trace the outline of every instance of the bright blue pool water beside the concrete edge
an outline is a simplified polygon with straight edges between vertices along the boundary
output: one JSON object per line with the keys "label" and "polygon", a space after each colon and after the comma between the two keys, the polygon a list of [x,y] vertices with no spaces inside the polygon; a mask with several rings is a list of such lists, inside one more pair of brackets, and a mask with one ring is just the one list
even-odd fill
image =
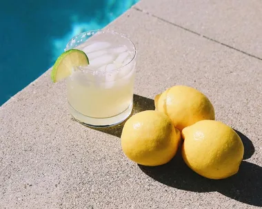
{"label": "bright blue pool water beside the concrete edge", "polygon": [[138,1],[1,2],[0,105],[46,72],[72,36],[103,28]]}

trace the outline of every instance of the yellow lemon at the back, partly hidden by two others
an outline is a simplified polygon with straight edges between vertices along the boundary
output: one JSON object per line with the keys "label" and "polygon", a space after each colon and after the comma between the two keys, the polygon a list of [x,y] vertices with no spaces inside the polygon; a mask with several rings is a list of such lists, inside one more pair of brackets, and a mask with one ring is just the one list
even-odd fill
{"label": "yellow lemon at the back, partly hidden by two others", "polygon": [[180,131],[199,120],[214,120],[214,107],[200,91],[174,86],[155,97],[155,107],[168,115]]}

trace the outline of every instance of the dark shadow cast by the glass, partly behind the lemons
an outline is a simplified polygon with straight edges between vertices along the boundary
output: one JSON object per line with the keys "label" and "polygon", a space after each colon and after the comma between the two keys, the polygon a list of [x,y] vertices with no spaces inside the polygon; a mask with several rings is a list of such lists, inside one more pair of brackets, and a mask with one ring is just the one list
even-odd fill
{"label": "dark shadow cast by the glass, partly behind the lemons", "polygon": [[[145,98],[143,96],[139,96],[137,94],[134,94],[134,99],[133,99],[133,109],[132,113],[128,118],[130,118],[132,115],[139,113],[141,111],[145,110],[154,110],[154,100]],[[114,135],[116,137],[121,137],[121,133],[123,130],[123,125],[125,124],[126,120],[125,119],[123,122],[120,124],[117,124],[115,126],[110,126],[110,127],[99,127],[99,128],[94,128],[91,127],[91,129],[95,129],[97,131],[101,131],[103,133],[108,133],[110,135]]]}

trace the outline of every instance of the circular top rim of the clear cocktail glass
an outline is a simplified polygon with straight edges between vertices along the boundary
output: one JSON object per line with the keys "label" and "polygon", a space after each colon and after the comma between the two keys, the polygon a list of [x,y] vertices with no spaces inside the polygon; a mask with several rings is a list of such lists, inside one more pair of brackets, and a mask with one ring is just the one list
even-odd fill
{"label": "circular top rim of the clear cocktail glass", "polygon": [[[103,33],[103,34],[105,34],[105,33],[110,33],[110,34],[115,34],[115,35],[117,35],[117,36],[121,36],[122,38],[126,39],[127,41],[129,41],[129,42],[131,43],[131,45],[132,45],[132,47],[133,47],[133,50],[134,50],[134,55],[132,56],[131,61],[129,61],[128,63],[126,63],[125,65],[123,65],[123,66],[121,66],[121,67],[108,70],[108,71],[105,72],[105,73],[110,73],[110,72],[118,71],[118,70],[120,70],[121,68],[123,68],[123,67],[125,67],[125,66],[128,66],[130,63],[132,63],[132,61],[134,61],[134,58],[136,58],[136,56],[137,56],[136,46],[135,46],[134,43],[131,41],[131,39],[129,39],[125,34],[119,33],[119,32],[115,32],[114,30],[103,30],[103,29],[100,29],[100,30],[88,30],[88,31],[85,31],[85,32],[81,32],[80,34],[77,34],[77,35],[73,36],[72,39],[70,39],[70,41],[68,41],[68,43],[67,43],[67,45],[66,45],[66,49],[69,47],[69,43],[72,43],[72,42],[74,41],[74,39],[76,39],[76,37],[81,36],[81,35],[82,35],[82,37],[84,37],[84,36],[86,36],[86,34],[88,34],[88,33],[92,34],[92,33],[94,33],[94,32],[101,32],[101,33]],[[94,35],[94,34],[92,34],[92,35]],[[92,37],[92,36],[91,36],[91,37]],[[73,48],[74,48],[74,47],[73,47]],[[67,51],[66,49],[64,50],[65,52]],[[69,49],[68,49],[68,50],[69,50]],[[83,70],[81,70],[81,72],[101,72],[101,70],[88,69],[88,66],[89,66],[89,65],[87,65],[87,66],[76,66],[76,67],[79,68],[80,70],[83,69]]]}

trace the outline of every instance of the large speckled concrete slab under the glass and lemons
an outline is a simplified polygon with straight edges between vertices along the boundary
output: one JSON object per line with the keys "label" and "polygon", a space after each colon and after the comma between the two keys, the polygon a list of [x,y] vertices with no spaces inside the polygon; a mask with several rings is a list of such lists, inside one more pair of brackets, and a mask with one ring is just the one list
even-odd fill
{"label": "large speckled concrete slab under the glass and lemons", "polygon": [[165,166],[130,162],[123,124],[74,122],[65,83],[51,83],[48,70],[0,107],[0,208],[261,208],[262,61],[135,8],[108,28],[137,46],[134,112],[172,85],[201,90],[245,144],[238,175],[205,179],[179,153]]}

